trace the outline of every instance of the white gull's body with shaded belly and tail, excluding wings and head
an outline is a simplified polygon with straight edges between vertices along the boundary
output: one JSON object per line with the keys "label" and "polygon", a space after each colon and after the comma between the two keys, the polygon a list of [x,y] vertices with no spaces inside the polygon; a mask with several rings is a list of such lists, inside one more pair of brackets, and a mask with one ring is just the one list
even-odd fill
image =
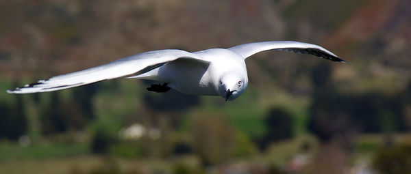
{"label": "white gull's body with shaded belly and tail, excluding wings and head", "polygon": [[192,54],[204,61],[177,59],[150,72],[130,78],[167,83],[169,87],[181,93],[201,96],[219,96],[219,79],[223,74],[242,72],[247,79],[244,59],[232,51],[214,48]]}

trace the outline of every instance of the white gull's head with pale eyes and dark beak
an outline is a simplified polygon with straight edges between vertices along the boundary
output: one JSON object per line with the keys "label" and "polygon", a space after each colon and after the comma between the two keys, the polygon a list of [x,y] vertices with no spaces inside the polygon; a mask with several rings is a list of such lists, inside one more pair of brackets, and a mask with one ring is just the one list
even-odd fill
{"label": "white gull's head with pale eyes and dark beak", "polygon": [[225,101],[231,101],[238,98],[245,91],[247,85],[247,76],[234,73],[226,74],[220,80],[219,94],[225,98]]}

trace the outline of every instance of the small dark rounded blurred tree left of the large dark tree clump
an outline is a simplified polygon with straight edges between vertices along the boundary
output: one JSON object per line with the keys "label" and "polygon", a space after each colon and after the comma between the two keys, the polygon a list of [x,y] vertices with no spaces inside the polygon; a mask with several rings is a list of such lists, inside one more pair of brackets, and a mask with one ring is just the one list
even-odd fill
{"label": "small dark rounded blurred tree left of the large dark tree clump", "polygon": [[258,146],[264,150],[271,143],[292,137],[292,115],[284,108],[271,108],[264,118],[266,132],[258,139]]}

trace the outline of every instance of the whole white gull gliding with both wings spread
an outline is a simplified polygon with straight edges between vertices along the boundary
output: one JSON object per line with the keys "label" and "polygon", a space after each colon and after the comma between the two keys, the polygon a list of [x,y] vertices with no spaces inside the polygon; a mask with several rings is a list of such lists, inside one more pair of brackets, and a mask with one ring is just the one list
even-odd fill
{"label": "whole white gull gliding with both wings spread", "polygon": [[[53,76],[47,80],[7,90],[8,93],[38,93],[58,91],[129,76],[158,81],[147,90],[166,92],[175,89],[181,93],[201,96],[221,96],[225,101],[238,98],[248,85],[245,59],[264,50],[286,50],[310,54],[330,61],[349,63],[329,50],[295,41],[268,41],[241,44],[231,48],[212,48],[189,53],[185,50],[152,50],[124,57],[102,66]],[[157,66],[148,72],[131,76]],[[162,83],[162,84],[160,84]]]}

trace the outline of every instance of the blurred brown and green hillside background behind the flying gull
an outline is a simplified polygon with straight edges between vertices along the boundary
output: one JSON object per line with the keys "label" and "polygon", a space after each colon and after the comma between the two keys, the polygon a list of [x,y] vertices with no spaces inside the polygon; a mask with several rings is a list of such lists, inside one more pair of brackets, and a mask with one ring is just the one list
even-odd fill
{"label": "blurred brown and green hillside background behind the flying gull", "polygon": [[[411,173],[411,1],[0,1],[0,173]],[[148,50],[266,51],[233,102],[118,79],[26,83]]]}

